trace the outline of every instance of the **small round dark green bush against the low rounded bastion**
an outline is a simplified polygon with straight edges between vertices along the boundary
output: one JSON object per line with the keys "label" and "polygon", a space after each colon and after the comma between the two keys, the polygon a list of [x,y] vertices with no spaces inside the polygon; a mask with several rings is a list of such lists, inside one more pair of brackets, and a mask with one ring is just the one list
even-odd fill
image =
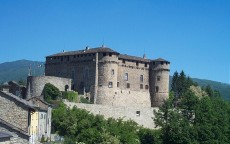
{"label": "small round dark green bush against the low rounded bastion", "polygon": [[47,83],[43,89],[44,100],[51,102],[51,100],[57,100],[61,96],[61,92],[54,85]]}

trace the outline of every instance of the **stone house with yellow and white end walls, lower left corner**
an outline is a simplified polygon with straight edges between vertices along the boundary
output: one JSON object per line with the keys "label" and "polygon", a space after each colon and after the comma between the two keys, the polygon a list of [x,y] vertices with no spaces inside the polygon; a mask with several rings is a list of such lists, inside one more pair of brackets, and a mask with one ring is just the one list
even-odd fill
{"label": "stone house with yellow and white end walls, lower left corner", "polygon": [[36,97],[24,100],[0,91],[0,132],[11,136],[9,143],[39,143],[42,135],[50,137],[51,107]]}

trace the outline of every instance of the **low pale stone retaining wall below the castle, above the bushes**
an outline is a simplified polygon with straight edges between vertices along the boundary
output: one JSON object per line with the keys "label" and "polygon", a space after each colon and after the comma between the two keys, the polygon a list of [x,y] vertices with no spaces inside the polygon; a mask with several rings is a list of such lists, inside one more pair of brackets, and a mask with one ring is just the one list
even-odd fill
{"label": "low pale stone retaining wall below the castle, above the bushes", "polygon": [[93,104],[81,104],[81,103],[72,103],[65,102],[65,104],[72,108],[76,106],[80,109],[85,109],[90,111],[93,114],[103,115],[105,118],[123,118],[124,120],[133,120],[139,125],[146,128],[155,128],[153,119],[155,116],[153,110],[158,110],[158,108],[144,108],[144,107],[121,107],[121,106],[108,106],[108,105],[93,105]]}

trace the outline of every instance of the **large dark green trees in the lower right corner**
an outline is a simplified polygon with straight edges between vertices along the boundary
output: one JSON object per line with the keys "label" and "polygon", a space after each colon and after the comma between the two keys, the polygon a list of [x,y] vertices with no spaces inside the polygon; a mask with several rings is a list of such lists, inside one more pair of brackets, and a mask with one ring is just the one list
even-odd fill
{"label": "large dark green trees in the lower right corner", "polygon": [[220,97],[198,98],[185,92],[177,107],[173,96],[156,112],[163,143],[230,143],[230,107]]}

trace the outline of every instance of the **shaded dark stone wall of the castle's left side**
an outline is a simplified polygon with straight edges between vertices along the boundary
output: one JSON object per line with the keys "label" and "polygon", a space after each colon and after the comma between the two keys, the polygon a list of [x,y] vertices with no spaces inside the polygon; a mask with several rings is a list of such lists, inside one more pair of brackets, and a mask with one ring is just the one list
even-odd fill
{"label": "shaded dark stone wall of the castle's left side", "polygon": [[46,76],[70,78],[73,80],[71,89],[79,94],[90,92],[95,85],[96,55],[84,54],[68,56],[46,61]]}

